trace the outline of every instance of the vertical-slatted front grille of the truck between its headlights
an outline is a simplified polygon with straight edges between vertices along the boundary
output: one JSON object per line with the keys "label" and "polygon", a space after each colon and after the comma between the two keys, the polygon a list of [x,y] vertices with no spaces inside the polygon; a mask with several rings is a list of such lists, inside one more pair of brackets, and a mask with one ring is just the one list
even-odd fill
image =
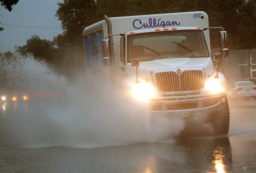
{"label": "vertical-slatted front grille of the truck between its headlights", "polygon": [[161,92],[199,90],[204,86],[202,70],[186,70],[180,75],[174,71],[158,72],[156,81]]}

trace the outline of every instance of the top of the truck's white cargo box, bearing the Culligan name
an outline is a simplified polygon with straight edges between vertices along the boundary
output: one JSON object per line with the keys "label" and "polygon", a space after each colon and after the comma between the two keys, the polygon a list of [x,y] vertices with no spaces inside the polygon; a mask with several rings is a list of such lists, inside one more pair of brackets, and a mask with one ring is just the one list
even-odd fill
{"label": "top of the truck's white cargo box, bearing the Culligan name", "polygon": [[[208,15],[203,11],[110,17],[113,33],[166,27],[208,27]],[[102,31],[106,21],[101,20],[84,28],[83,36]]]}

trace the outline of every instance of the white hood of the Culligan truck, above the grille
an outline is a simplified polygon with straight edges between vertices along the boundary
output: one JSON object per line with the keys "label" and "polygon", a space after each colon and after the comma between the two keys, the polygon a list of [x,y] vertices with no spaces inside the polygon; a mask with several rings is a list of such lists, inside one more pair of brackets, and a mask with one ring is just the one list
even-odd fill
{"label": "white hood of the Culligan truck, above the grille", "polygon": [[[208,58],[168,58],[153,61],[142,61],[139,71],[142,73],[176,71],[181,70],[204,70],[206,74],[212,69],[212,61]],[[146,74],[145,74],[146,75]]]}

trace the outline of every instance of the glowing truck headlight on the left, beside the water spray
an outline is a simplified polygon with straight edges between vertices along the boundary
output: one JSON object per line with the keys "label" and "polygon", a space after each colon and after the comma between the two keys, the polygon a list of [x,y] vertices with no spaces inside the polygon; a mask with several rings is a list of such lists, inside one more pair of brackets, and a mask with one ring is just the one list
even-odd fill
{"label": "glowing truck headlight on the left, beside the water spray", "polygon": [[156,95],[156,90],[150,83],[141,81],[141,83],[133,83],[131,95],[137,100],[145,102]]}

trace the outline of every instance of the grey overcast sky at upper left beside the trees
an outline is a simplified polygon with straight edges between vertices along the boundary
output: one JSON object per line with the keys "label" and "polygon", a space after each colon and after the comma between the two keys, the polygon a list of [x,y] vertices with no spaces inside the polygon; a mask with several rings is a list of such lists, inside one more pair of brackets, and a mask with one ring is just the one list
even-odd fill
{"label": "grey overcast sky at upper left beside the trees", "polygon": [[5,29],[0,31],[0,52],[13,52],[15,45],[25,45],[27,39],[32,35],[38,35],[41,39],[53,40],[54,36],[61,34],[63,32],[61,22],[55,17],[59,2],[63,2],[63,0],[19,0],[11,12],[0,7],[0,24],[60,28],[38,29],[0,25]]}

